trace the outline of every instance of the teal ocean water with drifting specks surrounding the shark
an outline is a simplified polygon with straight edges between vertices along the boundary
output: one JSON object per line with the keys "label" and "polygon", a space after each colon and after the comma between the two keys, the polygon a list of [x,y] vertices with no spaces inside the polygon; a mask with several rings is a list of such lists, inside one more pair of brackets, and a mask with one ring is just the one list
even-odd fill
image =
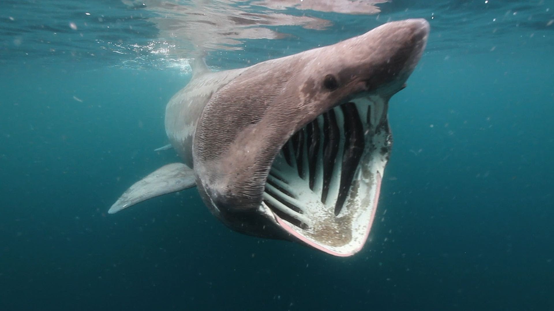
{"label": "teal ocean water with drifting specks surrounding the shark", "polygon": [[[0,310],[554,309],[554,1],[196,2],[0,2]],[[196,189],[107,214],[179,160],[153,149],[195,44],[224,70],[404,18],[431,34],[357,255],[240,235]]]}

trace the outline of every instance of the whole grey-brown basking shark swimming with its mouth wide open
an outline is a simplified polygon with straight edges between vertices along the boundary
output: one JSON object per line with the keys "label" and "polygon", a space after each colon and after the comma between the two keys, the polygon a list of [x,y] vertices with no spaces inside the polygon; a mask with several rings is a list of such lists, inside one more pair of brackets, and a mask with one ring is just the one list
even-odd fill
{"label": "whole grey-brown basking shark swimming with its mouth wide open", "polygon": [[391,153],[387,109],[416,67],[424,19],[242,69],[201,58],[166,107],[183,163],[131,186],[110,214],[192,186],[212,214],[243,234],[351,256],[367,240]]}

